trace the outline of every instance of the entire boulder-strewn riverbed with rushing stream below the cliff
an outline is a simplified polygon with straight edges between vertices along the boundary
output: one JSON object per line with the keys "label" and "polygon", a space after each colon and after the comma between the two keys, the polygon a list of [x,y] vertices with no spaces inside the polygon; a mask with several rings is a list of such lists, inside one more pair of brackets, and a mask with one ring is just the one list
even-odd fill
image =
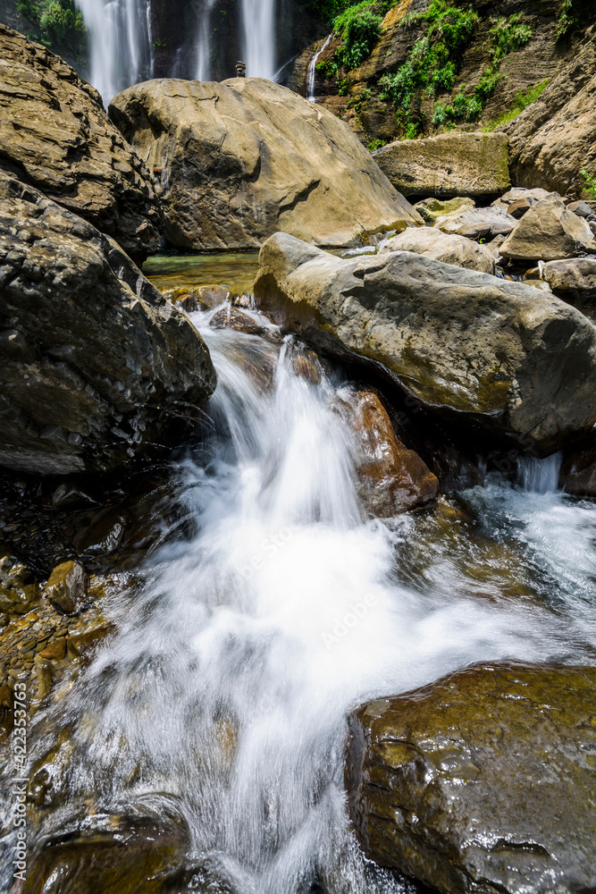
{"label": "entire boulder-strewn riverbed with rushing stream below the cliff", "polygon": [[594,203],[0,60],[3,890],[592,890]]}

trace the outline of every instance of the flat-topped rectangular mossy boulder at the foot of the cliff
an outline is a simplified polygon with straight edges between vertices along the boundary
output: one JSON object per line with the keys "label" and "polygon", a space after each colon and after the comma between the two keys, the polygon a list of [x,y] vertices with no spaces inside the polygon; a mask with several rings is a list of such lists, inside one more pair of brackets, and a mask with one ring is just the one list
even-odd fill
{"label": "flat-topped rectangular mossy boulder at the foot of the cliff", "polygon": [[405,196],[487,198],[508,190],[508,139],[503,133],[451,131],[399,139],[373,153]]}

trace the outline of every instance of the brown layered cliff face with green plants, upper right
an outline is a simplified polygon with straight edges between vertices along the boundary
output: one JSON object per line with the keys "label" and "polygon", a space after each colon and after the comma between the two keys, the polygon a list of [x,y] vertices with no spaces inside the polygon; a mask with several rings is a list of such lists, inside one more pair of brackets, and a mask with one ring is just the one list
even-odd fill
{"label": "brown layered cliff face with green plants, upper right", "polygon": [[[522,141],[529,139],[551,112],[565,119],[567,101],[578,90],[587,89],[594,74],[591,68],[594,38],[590,29],[596,22],[596,9],[592,4],[574,0],[575,23],[561,33],[567,10],[564,0],[500,0],[498,3],[475,0],[471,4],[457,4],[459,8],[469,8],[477,18],[463,52],[454,56],[457,76],[452,88],[436,92],[421,89],[405,110],[403,104],[387,96],[388,76],[390,79],[400,70],[403,72],[405,63],[413,58],[413,47],[431,33],[429,19],[417,18],[416,14],[428,16],[432,6],[439,4],[433,4],[432,0],[401,0],[391,8],[382,21],[381,38],[354,71],[347,72],[340,67],[335,72],[341,39],[333,38],[317,59],[315,95],[318,101],[348,122],[370,148],[404,136],[428,136],[452,128],[467,131],[503,128],[515,147],[516,159],[517,156],[525,159],[516,160],[514,170],[519,177],[527,179],[540,149],[534,147],[532,158],[526,158]],[[290,78],[293,89],[306,94],[307,69],[322,46],[323,40],[298,56]],[[495,75],[492,89],[487,89],[487,71]],[[576,103],[573,119],[567,126],[573,126],[579,115],[591,116],[591,95],[588,89],[583,102]],[[474,108],[469,112],[469,103],[474,97],[482,97],[482,109],[475,107],[475,113]],[[458,101],[462,109],[466,108],[466,101],[468,114],[455,114],[454,105],[457,108]],[[524,111],[526,105],[529,108]],[[524,126],[519,129],[521,120]],[[592,118],[588,125],[583,123],[580,139],[583,148],[575,151],[577,169],[591,161],[589,146],[596,137],[592,124]],[[545,162],[543,166],[546,170],[548,164]],[[541,181],[543,173],[537,175]],[[567,175],[554,177],[552,188],[560,190],[568,185],[567,181]],[[532,185],[536,184],[532,182]]]}

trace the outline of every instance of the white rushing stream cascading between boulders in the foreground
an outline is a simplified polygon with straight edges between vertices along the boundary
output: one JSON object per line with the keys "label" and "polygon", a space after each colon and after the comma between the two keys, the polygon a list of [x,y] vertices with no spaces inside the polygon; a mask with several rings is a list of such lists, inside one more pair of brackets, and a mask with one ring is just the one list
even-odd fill
{"label": "white rushing stream cascading between boulders in the foreground", "polygon": [[593,663],[596,514],[495,479],[365,520],[348,383],[252,315],[267,337],[192,315],[219,376],[180,460],[195,533],[108,600],[117,633],[36,721],[33,760],[71,730],[42,832],[175,811],[225,890],[403,891],[348,831],[346,714],[469,662]]}

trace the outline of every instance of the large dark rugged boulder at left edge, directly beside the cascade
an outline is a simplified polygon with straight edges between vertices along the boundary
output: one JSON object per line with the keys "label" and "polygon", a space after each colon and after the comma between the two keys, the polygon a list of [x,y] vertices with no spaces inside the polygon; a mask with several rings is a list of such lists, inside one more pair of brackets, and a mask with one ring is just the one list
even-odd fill
{"label": "large dark rugged boulder at left edge, directly beside the cascade", "polygon": [[215,386],[189,318],[113,240],[0,174],[0,465],[116,468]]}

